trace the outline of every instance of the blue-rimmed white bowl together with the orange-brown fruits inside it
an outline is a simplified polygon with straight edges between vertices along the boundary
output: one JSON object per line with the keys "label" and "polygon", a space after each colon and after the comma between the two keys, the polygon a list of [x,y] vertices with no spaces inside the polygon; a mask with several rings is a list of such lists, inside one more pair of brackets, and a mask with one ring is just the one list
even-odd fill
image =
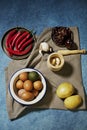
{"label": "blue-rimmed white bowl together with the orange-brown fruits inside it", "polygon": [[37,69],[22,68],[12,75],[9,91],[12,98],[18,103],[32,105],[44,97],[46,79]]}

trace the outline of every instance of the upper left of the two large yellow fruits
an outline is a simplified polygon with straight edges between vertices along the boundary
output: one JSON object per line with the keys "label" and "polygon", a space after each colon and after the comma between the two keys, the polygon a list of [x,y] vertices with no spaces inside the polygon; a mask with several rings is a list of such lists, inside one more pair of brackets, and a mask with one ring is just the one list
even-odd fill
{"label": "upper left of the two large yellow fruits", "polygon": [[61,83],[56,90],[56,94],[59,98],[67,98],[72,94],[74,94],[74,92],[75,92],[75,88],[69,82]]}

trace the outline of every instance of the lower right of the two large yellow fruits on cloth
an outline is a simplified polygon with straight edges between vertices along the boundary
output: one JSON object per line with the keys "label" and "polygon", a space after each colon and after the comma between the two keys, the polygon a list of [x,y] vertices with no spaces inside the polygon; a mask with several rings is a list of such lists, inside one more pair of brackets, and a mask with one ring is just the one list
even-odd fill
{"label": "lower right of the two large yellow fruits on cloth", "polygon": [[82,104],[80,95],[73,95],[64,100],[64,105],[67,109],[74,110]]}

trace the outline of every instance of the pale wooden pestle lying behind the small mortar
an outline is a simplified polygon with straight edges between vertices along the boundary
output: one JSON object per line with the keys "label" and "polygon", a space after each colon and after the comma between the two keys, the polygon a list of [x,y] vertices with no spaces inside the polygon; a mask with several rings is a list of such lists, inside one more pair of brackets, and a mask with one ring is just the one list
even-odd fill
{"label": "pale wooden pestle lying behind the small mortar", "polygon": [[82,50],[59,50],[57,53],[61,53],[62,55],[74,55],[74,54],[86,54],[87,51],[85,49]]}

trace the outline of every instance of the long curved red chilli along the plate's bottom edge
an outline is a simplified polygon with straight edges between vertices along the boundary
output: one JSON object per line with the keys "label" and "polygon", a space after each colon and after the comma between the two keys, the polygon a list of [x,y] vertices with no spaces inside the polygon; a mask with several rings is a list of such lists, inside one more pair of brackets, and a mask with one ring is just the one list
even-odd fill
{"label": "long curved red chilli along the plate's bottom edge", "polygon": [[12,50],[11,48],[6,48],[6,49],[7,49],[7,51],[8,51],[9,53],[11,53],[11,54],[13,54],[13,55],[19,55],[19,56],[21,56],[21,55],[25,55],[25,54],[27,54],[28,52],[30,52],[31,49],[32,49],[32,47],[33,47],[33,45],[30,44],[30,46],[29,46],[26,50],[21,51],[21,52],[18,51],[18,50]]}

